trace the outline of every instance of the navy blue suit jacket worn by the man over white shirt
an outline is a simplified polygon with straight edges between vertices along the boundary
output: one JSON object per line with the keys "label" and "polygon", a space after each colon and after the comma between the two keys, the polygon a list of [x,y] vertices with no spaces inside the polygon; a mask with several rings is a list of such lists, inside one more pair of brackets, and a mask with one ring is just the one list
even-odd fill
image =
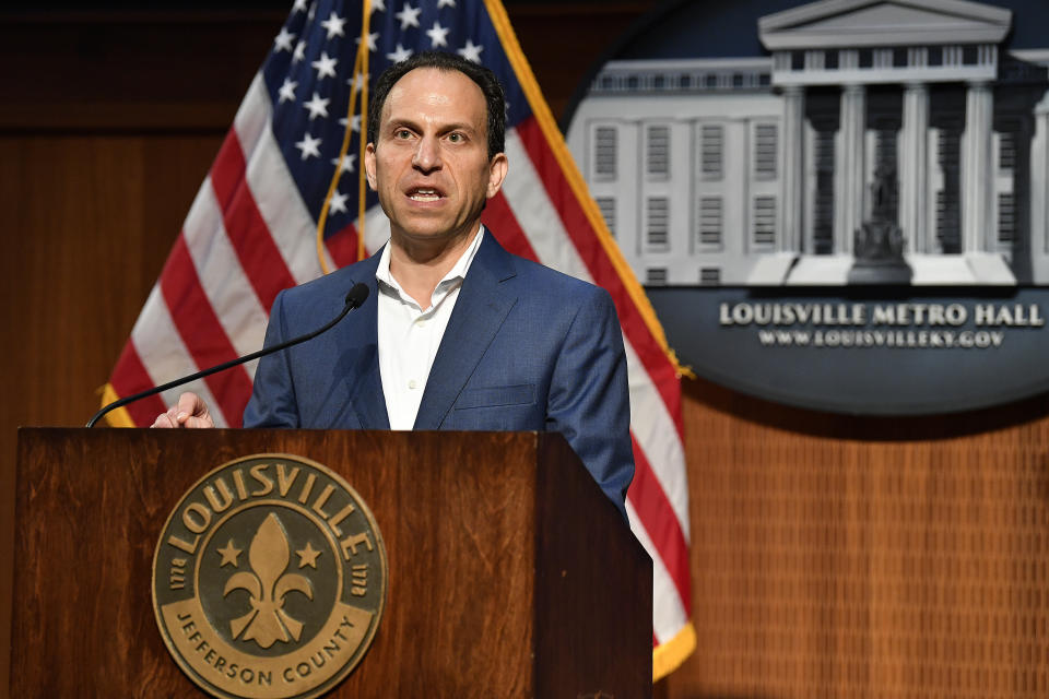
{"label": "navy blue suit jacket worn by the man over white shirt", "polygon": [[[326,334],[259,362],[245,427],[390,428],[377,346],[378,261],[377,253],[278,295],[267,346],[334,318],[355,283],[370,289]],[[486,232],[414,429],[559,431],[625,516],[634,476],[629,399],[608,293],[510,254]]]}

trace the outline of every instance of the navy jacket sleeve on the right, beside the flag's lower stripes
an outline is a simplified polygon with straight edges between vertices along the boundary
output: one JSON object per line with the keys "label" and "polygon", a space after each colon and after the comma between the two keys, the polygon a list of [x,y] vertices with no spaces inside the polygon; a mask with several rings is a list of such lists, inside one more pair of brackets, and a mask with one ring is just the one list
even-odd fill
{"label": "navy jacket sleeve on the right, beside the flag's lower stripes", "polygon": [[597,287],[588,292],[554,365],[546,429],[565,436],[626,519],[634,478],[626,353],[612,298]]}

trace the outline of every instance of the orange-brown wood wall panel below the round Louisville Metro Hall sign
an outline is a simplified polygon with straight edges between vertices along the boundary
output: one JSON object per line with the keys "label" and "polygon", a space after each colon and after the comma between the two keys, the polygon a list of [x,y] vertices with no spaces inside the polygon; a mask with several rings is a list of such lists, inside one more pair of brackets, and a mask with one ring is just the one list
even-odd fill
{"label": "orange-brown wood wall panel below the round Louisville Metro Hall sign", "polygon": [[1045,696],[1047,412],[872,420],[692,383],[699,647],[669,696]]}

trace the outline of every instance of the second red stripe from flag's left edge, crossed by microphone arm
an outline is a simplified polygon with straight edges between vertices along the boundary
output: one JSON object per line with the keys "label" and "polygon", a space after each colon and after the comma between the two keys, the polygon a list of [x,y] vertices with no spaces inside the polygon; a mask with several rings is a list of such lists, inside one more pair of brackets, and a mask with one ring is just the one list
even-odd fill
{"label": "second red stripe from flag's left edge, crossed by microphone arm", "polygon": [[[161,294],[175,329],[198,367],[203,369],[237,356],[200,285],[185,236],[178,236],[161,273]],[[226,424],[239,427],[244,407],[251,396],[247,370],[243,366],[234,367],[213,374],[204,381],[219,401]]]}

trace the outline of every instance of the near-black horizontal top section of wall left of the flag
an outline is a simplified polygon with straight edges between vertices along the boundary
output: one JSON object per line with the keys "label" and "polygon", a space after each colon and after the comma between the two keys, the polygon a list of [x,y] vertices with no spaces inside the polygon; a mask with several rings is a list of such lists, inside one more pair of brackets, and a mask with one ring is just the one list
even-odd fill
{"label": "near-black horizontal top section of wall left of the flag", "polygon": [[0,15],[0,128],[224,130],[285,16],[83,8]]}

